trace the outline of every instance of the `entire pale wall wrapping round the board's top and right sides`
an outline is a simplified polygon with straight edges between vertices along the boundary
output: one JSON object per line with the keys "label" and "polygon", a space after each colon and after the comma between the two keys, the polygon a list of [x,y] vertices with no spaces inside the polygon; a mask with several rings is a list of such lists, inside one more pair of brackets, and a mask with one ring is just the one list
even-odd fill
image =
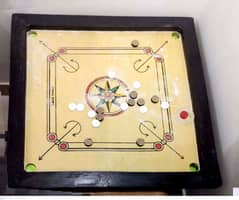
{"label": "entire pale wall wrapping round the board's top and right sides", "polygon": [[191,194],[231,194],[239,187],[239,21],[237,0],[2,0],[0,5],[0,81],[8,81],[11,14],[191,16],[195,18],[204,62],[218,157],[224,184]]}

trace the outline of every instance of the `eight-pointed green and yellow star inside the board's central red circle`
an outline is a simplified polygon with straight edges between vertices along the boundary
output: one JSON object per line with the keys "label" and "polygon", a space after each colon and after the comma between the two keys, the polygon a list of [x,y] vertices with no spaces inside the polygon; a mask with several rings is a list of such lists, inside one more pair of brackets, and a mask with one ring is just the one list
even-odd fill
{"label": "eight-pointed green and yellow star inside the board's central red circle", "polygon": [[105,104],[108,112],[111,111],[112,104],[120,106],[120,104],[117,102],[119,98],[126,97],[126,95],[124,94],[117,93],[120,85],[111,88],[111,85],[108,80],[105,82],[104,88],[98,85],[95,85],[95,87],[99,91],[96,96],[98,96],[100,99],[96,107],[100,107]]}

